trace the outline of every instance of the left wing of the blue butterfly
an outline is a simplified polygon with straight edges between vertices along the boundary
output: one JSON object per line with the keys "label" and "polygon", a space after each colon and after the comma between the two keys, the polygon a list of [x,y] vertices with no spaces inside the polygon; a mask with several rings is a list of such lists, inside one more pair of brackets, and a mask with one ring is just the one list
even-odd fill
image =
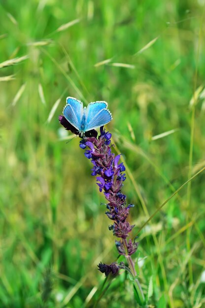
{"label": "left wing of the blue butterfly", "polygon": [[63,110],[64,117],[70,124],[80,131],[80,124],[83,115],[83,104],[80,100],[70,96],[67,97],[66,102],[67,104]]}

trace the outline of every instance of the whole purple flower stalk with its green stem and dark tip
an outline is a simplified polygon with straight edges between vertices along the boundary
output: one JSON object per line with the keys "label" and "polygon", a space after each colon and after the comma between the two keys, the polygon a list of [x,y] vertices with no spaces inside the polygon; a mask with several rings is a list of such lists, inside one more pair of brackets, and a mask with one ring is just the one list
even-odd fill
{"label": "whole purple flower stalk with its green stem and dark tip", "polygon": [[[76,135],[79,133],[68,123],[65,117],[59,116],[59,121],[66,129],[71,130]],[[119,163],[120,155],[115,155],[111,151],[113,146],[110,145],[111,133],[106,132],[102,126],[100,135],[98,137],[97,135],[96,130],[86,132],[86,135],[80,140],[80,148],[85,150],[85,156],[93,164],[91,175],[96,177],[99,190],[103,192],[107,200],[105,214],[112,221],[108,228],[117,237],[115,241],[116,248],[120,255],[125,256],[128,263],[128,267],[123,262],[113,262],[109,265],[100,263],[98,267],[105,276],[110,274],[115,276],[120,269],[125,269],[132,274],[134,291],[137,293],[137,302],[141,307],[146,307],[143,291],[137,279],[135,262],[132,259],[132,255],[136,252],[139,243],[135,241],[136,239],[133,241],[131,238],[127,240],[134,227],[127,220],[130,209],[134,205],[127,205],[126,195],[121,191],[126,180],[125,166],[123,162]]]}

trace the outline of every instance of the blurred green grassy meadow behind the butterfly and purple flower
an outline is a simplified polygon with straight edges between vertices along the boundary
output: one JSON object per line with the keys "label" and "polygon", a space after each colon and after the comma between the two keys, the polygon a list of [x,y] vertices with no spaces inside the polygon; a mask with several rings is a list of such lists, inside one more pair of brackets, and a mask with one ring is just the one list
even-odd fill
{"label": "blurred green grassy meadow behind the butterfly and purple flower", "polygon": [[[0,307],[94,307],[97,264],[117,258],[91,163],[58,122],[68,95],[108,102],[133,236],[205,166],[204,6],[0,1]],[[139,233],[150,307],[205,307],[204,181],[202,172]],[[97,307],[128,305],[122,272]]]}

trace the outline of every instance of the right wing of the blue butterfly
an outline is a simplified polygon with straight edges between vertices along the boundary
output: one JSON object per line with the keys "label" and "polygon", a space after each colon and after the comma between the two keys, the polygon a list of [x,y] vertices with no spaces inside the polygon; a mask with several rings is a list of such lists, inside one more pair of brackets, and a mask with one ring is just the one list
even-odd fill
{"label": "right wing of the blue butterfly", "polygon": [[100,127],[112,120],[111,112],[107,109],[107,103],[97,101],[87,107],[85,131]]}

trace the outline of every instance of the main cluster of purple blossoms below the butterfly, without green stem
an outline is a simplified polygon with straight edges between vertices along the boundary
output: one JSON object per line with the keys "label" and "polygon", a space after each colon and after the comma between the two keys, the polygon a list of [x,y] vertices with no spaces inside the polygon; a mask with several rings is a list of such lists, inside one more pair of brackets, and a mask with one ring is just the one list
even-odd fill
{"label": "main cluster of purple blossoms below the butterfly, without green stem", "polygon": [[[126,180],[125,173],[123,173],[125,166],[123,162],[119,163],[121,154],[115,156],[111,153],[111,146],[109,146],[111,134],[106,132],[103,127],[100,131],[98,139],[86,138],[86,141],[84,143],[81,141],[81,144],[85,144],[89,148],[85,151],[85,156],[89,159],[92,158],[91,161],[94,165],[92,175],[100,175],[96,178],[97,185],[100,191],[104,191],[104,196],[108,201],[108,211],[105,214],[114,222],[109,226],[109,230],[112,230],[116,237],[125,240],[134,227],[126,220],[133,205],[126,206],[126,195],[121,192],[123,182]],[[137,249],[132,241],[129,241],[129,249],[128,247],[125,249],[123,242],[120,243],[118,251],[121,254],[124,254],[125,251],[132,254]]]}

